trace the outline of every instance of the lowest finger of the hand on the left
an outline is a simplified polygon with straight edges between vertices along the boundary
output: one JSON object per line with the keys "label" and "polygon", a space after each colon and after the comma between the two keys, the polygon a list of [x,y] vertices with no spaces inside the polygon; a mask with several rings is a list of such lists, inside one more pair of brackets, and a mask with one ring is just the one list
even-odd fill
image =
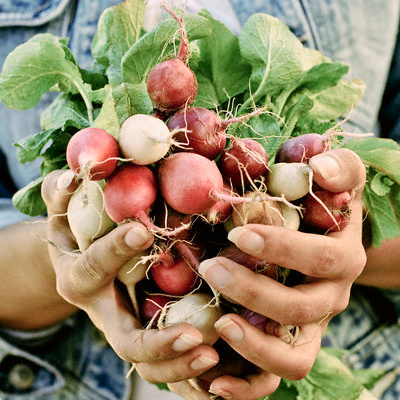
{"label": "lowest finger of the hand on the left", "polygon": [[139,375],[149,382],[179,382],[196,377],[219,361],[211,346],[200,345],[180,357],[137,365]]}

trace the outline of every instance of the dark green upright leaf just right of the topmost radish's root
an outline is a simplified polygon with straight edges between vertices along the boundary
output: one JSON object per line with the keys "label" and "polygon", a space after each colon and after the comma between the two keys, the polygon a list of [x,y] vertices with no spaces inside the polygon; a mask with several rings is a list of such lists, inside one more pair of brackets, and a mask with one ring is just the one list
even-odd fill
{"label": "dark green upright leaf just right of the topmost radish's root", "polygon": [[194,69],[199,90],[196,106],[212,108],[248,89],[250,65],[240,54],[239,39],[224,24],[202,11],[212,25],[212,35],[200,39],[200,62]]}

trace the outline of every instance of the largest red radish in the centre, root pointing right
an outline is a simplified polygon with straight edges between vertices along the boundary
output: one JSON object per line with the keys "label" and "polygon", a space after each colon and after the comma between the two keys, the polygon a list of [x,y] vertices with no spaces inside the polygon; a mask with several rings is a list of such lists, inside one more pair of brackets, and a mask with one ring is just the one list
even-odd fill
{"label": "largest red radish in the centre, root pointing right", "polygon": [[175,153],[158,169],[161,195],[169,206],[182,214],[203,214],[217,201],[232,204],[252,201],[227,195],[214,161],[195,153]]}

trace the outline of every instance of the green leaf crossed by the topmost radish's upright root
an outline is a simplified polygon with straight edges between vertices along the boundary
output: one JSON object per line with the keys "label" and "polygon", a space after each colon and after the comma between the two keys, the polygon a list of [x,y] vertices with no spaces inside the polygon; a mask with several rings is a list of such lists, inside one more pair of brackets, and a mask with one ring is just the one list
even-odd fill
{"label": "green leaf crossed by the topmost radish's upright root", "polygon": [[[189,41],[211,35],[211,24],[204,17],[188,14],[184,22]],[[150,70],[179,47],[172,43],[178,29],[178,23],[171,17],[143,35],[122,59],[123,82],[144,83]]]}

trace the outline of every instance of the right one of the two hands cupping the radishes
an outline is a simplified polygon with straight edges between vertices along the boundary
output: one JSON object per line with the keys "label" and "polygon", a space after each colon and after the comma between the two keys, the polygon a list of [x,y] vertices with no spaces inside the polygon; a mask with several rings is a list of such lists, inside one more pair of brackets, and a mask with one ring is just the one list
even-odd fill
{"label": "right one of the two hands cupping the radishes", "polygon": [[[350,288],[365,265],[361,241],[364,166],[355,153],[346,149],[315,156],[310,166],[319,186],[353,193],[346,228],[318,235],[277,226],[246,225],[229,235],[241,250],[304,274],[301,283],[287,287],[223,257],[200,265],[200,274],[222,295],[272,320],[266,332],[236,314],[224,315],[216,323],[221,338],[260,368],[258,375],[242,379],[216,378],[210,392],[222,398],[258,399],[276,389],[276,376],[290,380],[305,377],[317,357],[329,320],[347,306]],[[294,344],[279,338],[287,333],[287,325],[299,327]],[[208,398],[187,382],[174,384],[171,389],[190,399]]]}

